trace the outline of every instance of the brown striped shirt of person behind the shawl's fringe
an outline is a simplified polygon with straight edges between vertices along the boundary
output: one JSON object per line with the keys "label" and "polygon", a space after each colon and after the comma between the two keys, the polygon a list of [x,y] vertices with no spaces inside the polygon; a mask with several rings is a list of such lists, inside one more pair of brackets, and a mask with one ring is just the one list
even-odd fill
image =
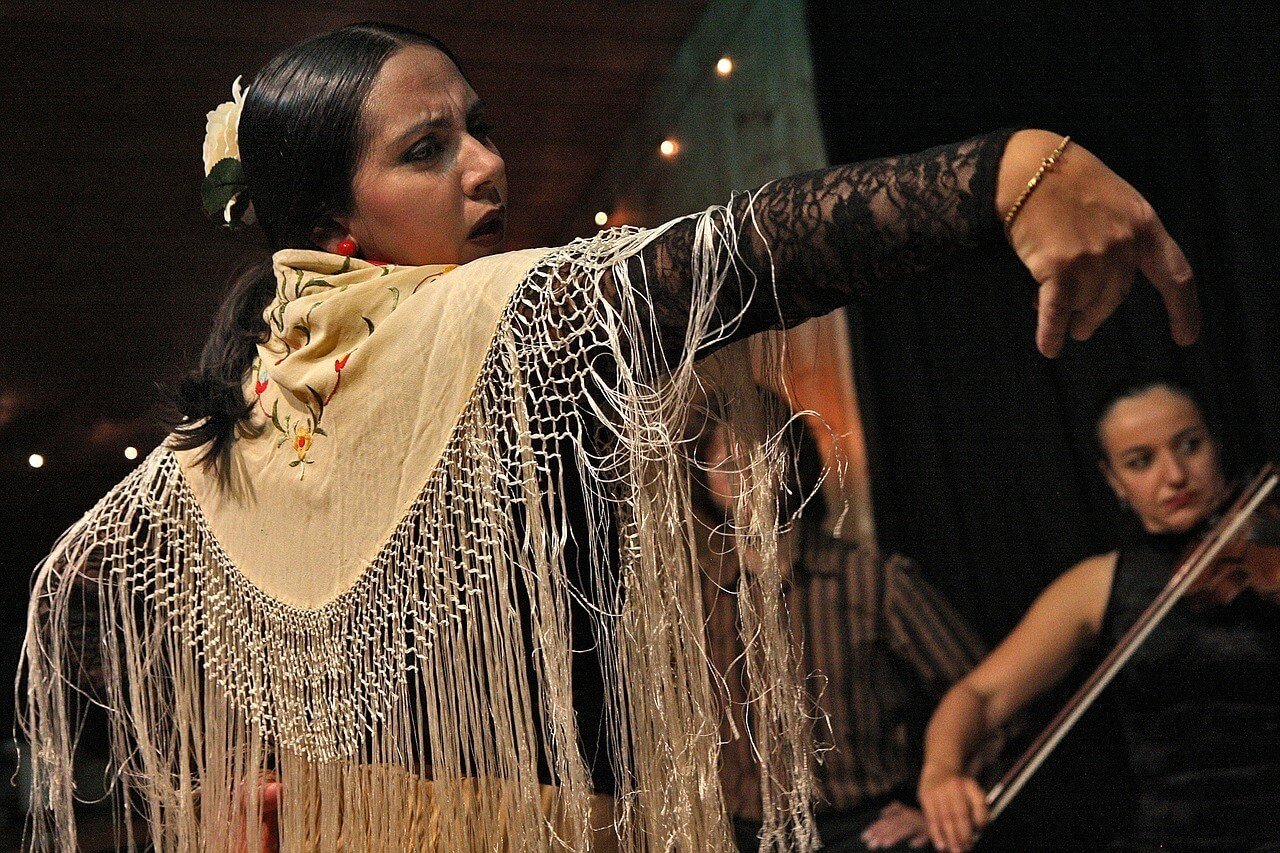
{"label": "brown striped shirt of person behind the shawl's fringe", "polygon": [[[916,733],[946,690],[986,649],[960,613],[905,557],[887,560],[812,526],[794,562],[787,590],[801,666],[822,713],[815,735],[829,747],[815,768],[819,811],[856,808],[904,785],[920,768]],[[733,597],[737,573],[719,533],[699,537],[707,569],[712,658],[727,675],[732,717],[745,730],[742,647]],[[730,565],[732,564],[732,565]],[[824,719],[822,719],[824,715]],[[726,720],[721,772],[731,813],[759,820],[759,774],[745,736]]]}

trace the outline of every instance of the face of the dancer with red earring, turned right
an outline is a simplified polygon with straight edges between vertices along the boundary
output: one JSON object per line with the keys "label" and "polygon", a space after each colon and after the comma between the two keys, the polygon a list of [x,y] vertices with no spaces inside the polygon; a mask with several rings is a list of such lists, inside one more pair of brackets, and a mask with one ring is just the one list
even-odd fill
{"label": "face of the dancer with red earring, turned right", "polygon": [[480,99],[439,50],[392,55],[362,110],[367,138],[351,215],[335,220],[360,255],[396,264],[465,264],[502,248],[507,170]]}

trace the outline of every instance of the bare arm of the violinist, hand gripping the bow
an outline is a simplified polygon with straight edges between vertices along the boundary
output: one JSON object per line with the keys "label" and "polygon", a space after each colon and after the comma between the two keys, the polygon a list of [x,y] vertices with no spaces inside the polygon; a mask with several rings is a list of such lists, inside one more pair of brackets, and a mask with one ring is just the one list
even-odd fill
{"label": "bare arm of the violinist, hand gripping the bow", "polygon": [[966,850],[987,803],[965,766],[983,739],[1075,665],[1097,637],[1115,553],[1091,557],[1055,580],[1009,637],[942,698],[924,736],[920,806],[934,847]]}

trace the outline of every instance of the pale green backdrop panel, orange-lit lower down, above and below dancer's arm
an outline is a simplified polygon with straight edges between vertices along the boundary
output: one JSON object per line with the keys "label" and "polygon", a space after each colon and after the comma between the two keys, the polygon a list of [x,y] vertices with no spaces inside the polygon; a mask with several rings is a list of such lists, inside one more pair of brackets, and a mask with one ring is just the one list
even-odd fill
{"label": "pale green backdrop panel, orange-lit lower down, above and below dancer's arm", "polygon": [[[716,63],[728,56],[722,77]],[[659,154],[673,140],[673,158]],[[570,233],[654,225],[723,204],[731,193],[827,165],[813,90],[813,58],[801,0],[717,0],[677,51],[644,113],[585,193]],[[844,311],[788,334],[786,396],[815,410],[814,437],[838,476],[828,503],[847,502],[840,535],[876,547],[867,447]],[[836,524],[836,520],[832,519]]]}

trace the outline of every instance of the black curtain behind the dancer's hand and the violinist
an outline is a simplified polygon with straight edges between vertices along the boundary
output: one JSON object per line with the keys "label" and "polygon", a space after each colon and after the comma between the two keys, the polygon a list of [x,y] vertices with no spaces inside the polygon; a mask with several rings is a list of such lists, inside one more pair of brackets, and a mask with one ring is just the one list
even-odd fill
{"label": "black curtain behind the dancer's hand and the violinist", "polygon": [[882,546],[915,557],[997,642],[1050,580],[1123,534],[1089,423],[1116,382],[1179,374],[1233,457],[1280,459],[1280,27],[1267,5],[1203,0],[812,0],[809,24],[831,161],[1004,126],[1070,133],[1152,201],[1198,274],[1206,325],[1188,348],[1139,282],[1092,341],[1041,357],[1033,282],[1007,247],[856,313]]}

